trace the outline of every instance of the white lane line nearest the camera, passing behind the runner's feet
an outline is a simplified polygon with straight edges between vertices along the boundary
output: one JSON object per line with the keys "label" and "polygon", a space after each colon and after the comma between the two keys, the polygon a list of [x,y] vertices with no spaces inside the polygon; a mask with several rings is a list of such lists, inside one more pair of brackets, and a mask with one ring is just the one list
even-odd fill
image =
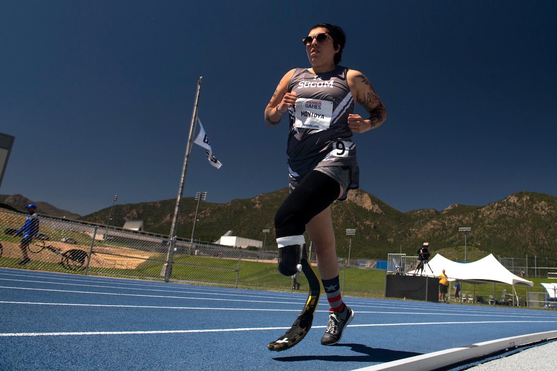
{"label": "white lane line nearest the camera, passing behind the runner's feet", "polygon": [[[377,327],[377,326],[416,326],[416,325],[463,325],[463,324],[508,324],[508,323],[548,323],[547,321],[464,321],[464,322],[421,322],[421,323],[390,323],[349,325],[348,327]],[[557,321],[555,321],[557,323]],[[312,326],[312,328],[326,328],[326,326]],[[153,330],[153,331],[72,331],[53,333],[0,333],[0,338],[16,336],[84,336],[84,335],[152,335],[152,334],[196,334],[196,333],[228,333],[234,331],[269,331],[287,330],[288,327],[261,327],[239,329],[199,329],[199,330]]]}

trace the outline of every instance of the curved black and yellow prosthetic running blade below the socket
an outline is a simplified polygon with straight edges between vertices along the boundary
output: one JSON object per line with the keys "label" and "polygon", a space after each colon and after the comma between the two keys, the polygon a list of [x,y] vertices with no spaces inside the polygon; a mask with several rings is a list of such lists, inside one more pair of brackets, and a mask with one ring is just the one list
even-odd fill
{"label": "curved black and yellow prosthetic running blade below the socket", "polygon": [[307,278],[307,283],[310,286],[306,304],[304,309],[302,309],[302,313],[298,315],[294,324],[292,324],[292,327],[280,338],[275,341],[271,341],[271,343],[267,345],[269,350],[280,352],[281,350],[292,348],[292,346],[300,343],[300,341],[304,339],[304,336],[306,336],[307,331],[311,329],[311,323],[313,322],[313,317],[315,311],[317,310],[317,304],[319,304],[321,284],[306,256],[302,257],[301,265],[302,272],[304,272],[304,275]]}

